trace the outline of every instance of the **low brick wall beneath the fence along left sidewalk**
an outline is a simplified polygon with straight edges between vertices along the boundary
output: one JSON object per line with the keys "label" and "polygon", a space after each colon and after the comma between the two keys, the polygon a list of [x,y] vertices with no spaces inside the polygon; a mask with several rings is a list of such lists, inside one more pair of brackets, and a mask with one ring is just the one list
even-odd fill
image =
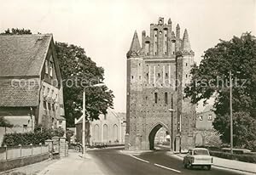
{"label": "low brick wall beneath the fence along left sidewalk", "polygon": [[14,169],[16,167],[24,167],[47,159],[49,159],[49,153],[44,153],[41,155],[30,155],[7,161],[0,161],[0,172]]}

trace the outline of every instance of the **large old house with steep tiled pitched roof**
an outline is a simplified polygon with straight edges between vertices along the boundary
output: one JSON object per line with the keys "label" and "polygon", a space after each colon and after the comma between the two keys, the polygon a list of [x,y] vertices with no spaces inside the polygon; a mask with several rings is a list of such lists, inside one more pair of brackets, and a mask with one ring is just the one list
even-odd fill
{"label": "large old house with steep tiled pitched roof", "polygon": [[0,36],[0,116],[20,127],[58,127],[62,89],[51,34]]}

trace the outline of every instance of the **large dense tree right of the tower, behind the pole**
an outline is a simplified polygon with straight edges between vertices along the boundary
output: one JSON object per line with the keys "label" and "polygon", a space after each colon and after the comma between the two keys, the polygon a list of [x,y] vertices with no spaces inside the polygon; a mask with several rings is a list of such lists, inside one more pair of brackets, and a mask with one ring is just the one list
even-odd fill
{"label": "large dense tree right of the tower, behind the pole", "polygon": [[[247,127],[250,129],[248,132],[253,132],[253,127],[249,127],[248,122],[238,120],[241,117],[252,123],[256,120],[256,39],[250,33],[233,37],[230,41],[220,40],[214,48],[207,49],[200,65],[193,66],[192,81],[185,88],[186,96],[194,104],[201,100],[206,104],[207,99],[215,99],[217,118],[213,127],[223,134],[221,138],[224,143],[230,142],[230,130],[226,126],[230,121],[230,71],[233,82],[233,112],[237,115],[234,121],[237,119],[238,123],[236,130]],[[235,134],[236,130],[234,129]],[[247,142],[245,138],[247,137],[237,138],[239,141],[234,145],[244,145]]]}

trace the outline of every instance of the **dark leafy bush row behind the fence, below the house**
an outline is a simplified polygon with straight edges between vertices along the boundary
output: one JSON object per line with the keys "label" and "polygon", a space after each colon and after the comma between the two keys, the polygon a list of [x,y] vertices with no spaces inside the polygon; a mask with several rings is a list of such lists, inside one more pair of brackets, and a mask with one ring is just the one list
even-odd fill
{"label": "dark leafy bush row behind the fence, below the house", "polygon": [[62,137],[64,131],[60,128],[58,129],[44,129],[36,128],[34,133],[7,133],[3,136],[3,145],[7,146],[17,146],[28,145],[28,144],[44,144],[44,141],[52,138],[53,136]]}

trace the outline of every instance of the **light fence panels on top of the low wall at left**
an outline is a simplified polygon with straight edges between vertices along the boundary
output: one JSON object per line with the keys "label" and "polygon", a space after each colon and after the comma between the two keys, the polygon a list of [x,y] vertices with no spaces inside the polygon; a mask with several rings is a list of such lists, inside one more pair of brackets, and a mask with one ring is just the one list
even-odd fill
{"label": "light fence panels on top of the low wall at left", "polygon": [[12,160],[31,155],[41,155],[49,152],[48,145],[20,145],[20,146],[4,146],[0,147],[0,161]]}

